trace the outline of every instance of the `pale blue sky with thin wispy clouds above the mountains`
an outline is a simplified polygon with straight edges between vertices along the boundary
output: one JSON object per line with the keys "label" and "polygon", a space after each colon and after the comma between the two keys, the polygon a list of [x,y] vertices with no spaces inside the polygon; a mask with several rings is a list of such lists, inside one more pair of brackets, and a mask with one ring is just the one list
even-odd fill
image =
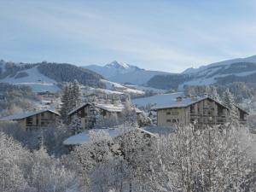
{"label": "pale blue sky with thin wispy clouds above the mountains", "polygon": [[0,0],[0,58],[182,72],[256,55],[253,0]]}

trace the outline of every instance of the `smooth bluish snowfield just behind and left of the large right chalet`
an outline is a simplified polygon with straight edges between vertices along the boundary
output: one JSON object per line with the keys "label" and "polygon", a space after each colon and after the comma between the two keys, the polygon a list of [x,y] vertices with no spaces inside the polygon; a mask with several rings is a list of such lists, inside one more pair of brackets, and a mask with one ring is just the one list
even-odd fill
{"label": "smooth bluish snowfield just behind and left of the large right chalet", "polygon": [[170,94],[162,94],[156,96],[147,96],[143,98],[133,99],[132,102],[137,107],[145,107],[147,105],[155,105],[155,106],[167,106],[172,103],[177,96],[183,96],[183,92],[170,93]]}

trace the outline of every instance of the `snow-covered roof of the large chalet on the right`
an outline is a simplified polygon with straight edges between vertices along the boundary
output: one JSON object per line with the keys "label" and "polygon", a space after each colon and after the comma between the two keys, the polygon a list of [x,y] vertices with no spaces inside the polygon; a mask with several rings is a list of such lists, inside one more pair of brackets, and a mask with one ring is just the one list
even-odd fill
{"label": "snow-covered roof of the large chalet on the right", "polygon": [[175,99],[172,99],[172,102],[170,102],[169,105],[156,106],[153,109],[158,110],[158,109],[165,109],[165,108],[187,108],[190,105],[195,104],[196,102],[201,102],[201,101],[206,100],[206,99],[211,100],[213,102],[217,102],[218,105],[221,105],[224,108],[227,108],[223,104],[221,104],[220,102],[212,99],[211,97],[208,97],[208,96],[203,96],[203,97],[192,96],[192,97],[181,97],[180,100],[177,100],[177,98],[175,98]]}

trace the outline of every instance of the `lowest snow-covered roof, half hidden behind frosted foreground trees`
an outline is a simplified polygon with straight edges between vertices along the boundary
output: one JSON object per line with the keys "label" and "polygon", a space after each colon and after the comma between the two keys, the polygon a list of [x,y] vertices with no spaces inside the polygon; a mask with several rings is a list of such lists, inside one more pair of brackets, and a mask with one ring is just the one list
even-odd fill
{"label": "lowest snow-covered roof, half hidden behind frosted foreground trees", "polygon": [[[137,131],[142,131],[144,133],[147,133],[149,135],[154,136],[153,133],[149,132],[149,131],[145,131],[143,129],[140,128],[136,128]],[[120,135],[122,135],[123,133],[125,133],[124,129],[121,128],[113,128],[113,129],[91,129],[89,131],[84,131],[82,133],[79,133],[77,135],[68,137],[63,144],[64,145],[81,145],[84,143],[89,143],[90,142],[90,131],[106,131],[108,133],[108,135],[112,138],[114,137],[118,137]],[[133,131],[133,129],[131,129],[131,131]]]}

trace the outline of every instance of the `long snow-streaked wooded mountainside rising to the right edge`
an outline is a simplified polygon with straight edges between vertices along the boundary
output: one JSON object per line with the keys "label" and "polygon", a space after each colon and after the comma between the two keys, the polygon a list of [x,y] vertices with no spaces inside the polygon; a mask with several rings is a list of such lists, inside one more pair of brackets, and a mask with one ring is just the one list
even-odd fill
{"label": "long snow-streaked wooded mountainside rising to the right edge", "polygon": [[148,81],[148,86],[177,89],[186,84],[207,85],[233,82],[256,82],[256,55],[215,62],[199,68],[188,68],[180,74],[158,75]]}

